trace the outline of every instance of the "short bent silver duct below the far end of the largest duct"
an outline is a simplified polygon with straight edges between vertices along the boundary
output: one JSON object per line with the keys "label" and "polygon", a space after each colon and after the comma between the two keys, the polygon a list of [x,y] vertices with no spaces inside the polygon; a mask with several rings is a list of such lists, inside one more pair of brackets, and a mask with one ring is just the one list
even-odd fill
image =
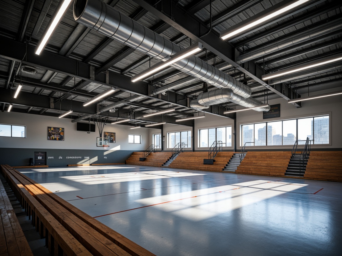
{"label": "short bent silver duct below the far end of the largest duct", "polygon": [[[213,91],[208,91],[207,93],[202,93],[198,95],[197,102],[201,105],[214,105],[220,103],[226,103],[228,101],[234,102],[246,108],[252,108],[253,106],[262,105],[262,102],[255,100],[252,97],[248,99],[242,98],[239,95],[233,93],[231,89],[222,88]],[[255,111],[269,111],[270,107],[257,108]]]}

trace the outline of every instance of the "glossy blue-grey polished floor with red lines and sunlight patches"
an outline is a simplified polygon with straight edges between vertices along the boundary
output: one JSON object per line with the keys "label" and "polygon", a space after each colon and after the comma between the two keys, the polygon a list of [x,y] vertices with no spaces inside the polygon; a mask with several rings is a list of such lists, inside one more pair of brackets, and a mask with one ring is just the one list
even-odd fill
{"label": "glossy blue-grey polished floor with red lines and sunlight patches", "polygon": [[342,183],[133,165],[19,171],[158,256],[342,255]]}

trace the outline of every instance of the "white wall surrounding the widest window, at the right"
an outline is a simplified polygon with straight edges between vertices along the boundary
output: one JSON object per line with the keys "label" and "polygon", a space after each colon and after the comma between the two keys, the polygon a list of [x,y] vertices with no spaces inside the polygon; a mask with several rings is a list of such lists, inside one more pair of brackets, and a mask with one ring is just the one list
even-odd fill
{"label": "white wall surrounding the widest window, at the right", "polygon": [[[329,89],[316,93],[310,93],[310,96],[328,93],[330,91],[341,90],[342,88]],[[306,97],[307,94],[302,94]],[[312,145],[311,148],[342,148],[342,96],[331,96],[325,98],[318,98],[313,100],[302,101],[301,108],[296,108],[284,98],[269,100],[270,105],[280,103],[280,117],[263,119],[263,112],[253,110],[241,111],[236,113],[237,118],[237,149],[241,148],[240,145],[240,126],[242,124],[271,122],[275,120],[294,119],[301,117],[310,117],[316,115],[330,115],[330,144],[329,145]],[[284,146],[259,146],[252,147],[253,149],[292,149],[293,145]]]}

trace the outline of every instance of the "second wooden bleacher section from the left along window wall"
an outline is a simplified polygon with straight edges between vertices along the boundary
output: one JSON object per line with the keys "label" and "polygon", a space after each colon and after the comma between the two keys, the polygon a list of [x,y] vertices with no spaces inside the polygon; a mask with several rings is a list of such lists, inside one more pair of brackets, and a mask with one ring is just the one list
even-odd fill
{"label": "second wooden bleacher section from the left along window wall", "polygon": [[190,169],[199,171],[222,172],[234,152],[218,152],[213,165],[204,165],[203,159],[208,159],[208,152],[182,152],[170,164],[170,168]]}

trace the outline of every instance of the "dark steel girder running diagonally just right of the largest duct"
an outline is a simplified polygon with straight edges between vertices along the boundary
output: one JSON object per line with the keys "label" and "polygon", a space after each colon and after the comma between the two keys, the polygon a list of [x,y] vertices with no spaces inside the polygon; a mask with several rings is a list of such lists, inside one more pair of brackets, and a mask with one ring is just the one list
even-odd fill
{"label": "dark steel girder running diagonally just right of the largest duct", "polygon": [[[163,5],[163,10],[161,11],[159,8],[161,7],[160,4],[155,4],[154,0],[133,0],[140,6],[144,7],[146,10],[157,16],[158,18],[162,19],[163,21],[170,24],[175,29],[179,30],[183,34],[187,35],[189,38],[199,41],[203,44],[205,48],[209,51],[223,59],[224,61],[228,62],[232,66],[236,67],[241,72],[245,73],[247,76],[251,77],[253,80],[257,81],[258,83],[264,85],[267,89],[273,91],[277,95],[281,96],[282,98],[289,100],[289,96],[287,94],[283,94],[283,90],[278,90],[277,88],[268,85],[265,83],[261,76],[264,74],[264,71],[259,65],[256,63],[249,61],[247,64],[242,65],[244,67],[239,66],[235,61],[235,48],[221,40],[219,38],[219,34],[213,30],[209,31],[209,28],[196,19],[194,16],[188,14],[181,8],[181,6],[177,5],[173,1],[170,2],[168,5]],[[172,15],[172,19],[170,18]],[[204,36],[201,36],[203,33],[206,33]],[[247,68],[245,68],[248,66]],[[299,104],[294,104],[298,108],[300,107]]]}

